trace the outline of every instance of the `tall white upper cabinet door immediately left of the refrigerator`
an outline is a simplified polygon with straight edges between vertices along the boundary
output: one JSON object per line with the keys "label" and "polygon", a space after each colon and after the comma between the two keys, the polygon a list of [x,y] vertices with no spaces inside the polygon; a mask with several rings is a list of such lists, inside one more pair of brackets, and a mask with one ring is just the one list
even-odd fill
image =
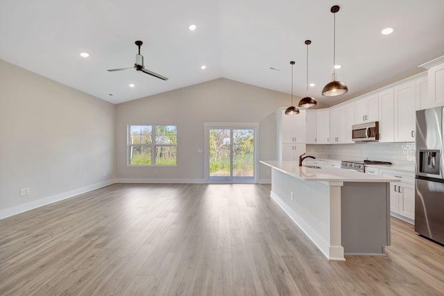
{"label": "tall white upper cabinet door immediately left of the refrigerator", "polygon": [[415,141],[416,82],[411,81],[394,87],[394,127],[396,142]]}

